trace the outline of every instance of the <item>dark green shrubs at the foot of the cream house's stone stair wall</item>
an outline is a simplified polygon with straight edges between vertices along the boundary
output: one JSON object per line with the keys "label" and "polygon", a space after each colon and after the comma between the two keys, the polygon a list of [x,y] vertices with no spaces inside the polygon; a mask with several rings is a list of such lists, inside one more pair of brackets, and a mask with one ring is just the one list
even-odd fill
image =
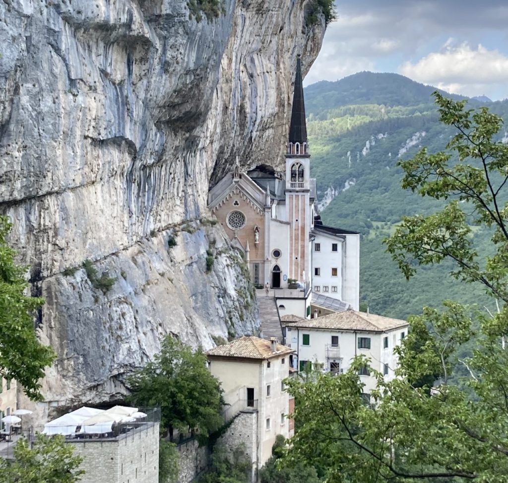
{"label": "dark green shrubs at the foot of the cream house's stone stair wall", "polygon": [[212,469],[199,479],[199,483],[247,483],[251,463],[245,455],[245,445],[230,449],[216,444],[212,453]]}

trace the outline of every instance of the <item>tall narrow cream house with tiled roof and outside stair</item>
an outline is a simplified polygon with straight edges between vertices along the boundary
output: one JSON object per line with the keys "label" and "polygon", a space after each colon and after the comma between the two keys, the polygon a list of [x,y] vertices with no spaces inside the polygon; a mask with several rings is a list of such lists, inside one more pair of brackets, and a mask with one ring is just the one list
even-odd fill
{"label": "tall narrow cream house with tiled roof and outside stair", "polygon": [[256,413],[257,421],[251,426],[256,434],[244,428],[242,438],[246,444],[257,441],[252,448],[256,469],[270,458],[277,434],[289,436],[289,395],[282,381],[289,376],[293,352],[276,340],[254,336],[241,337],[207,352],[210,372],[219,379],[226,403]]}

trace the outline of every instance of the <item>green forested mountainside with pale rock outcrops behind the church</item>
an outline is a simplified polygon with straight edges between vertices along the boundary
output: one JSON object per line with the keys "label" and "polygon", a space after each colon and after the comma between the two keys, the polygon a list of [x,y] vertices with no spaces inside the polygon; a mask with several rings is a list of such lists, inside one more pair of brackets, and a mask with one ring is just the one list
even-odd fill
{"label": "green forested mountainside with pale rock outcrops behind the church", "polygon": [[[325,223],[362,233],[360,300],[377,314],[406,317],[447,298],[492,303],[481,287],[459,286],[451,279],[451,265],[420,268],[406,282],[382,244],[403,215],[439,208],[435,200],[403,190],[397,166],[420,147],[442,150],[454,133],[437,121],[434,90],[397,74],[370,72],[305,90],[311,174],[321,214]],[[508,116],[508,101],[468,102],[471,108],[487,105],[504,119]],[[503,137],[508,140],[505,133]],[[474,236],[487,250],[488,233],[478,228]]]}

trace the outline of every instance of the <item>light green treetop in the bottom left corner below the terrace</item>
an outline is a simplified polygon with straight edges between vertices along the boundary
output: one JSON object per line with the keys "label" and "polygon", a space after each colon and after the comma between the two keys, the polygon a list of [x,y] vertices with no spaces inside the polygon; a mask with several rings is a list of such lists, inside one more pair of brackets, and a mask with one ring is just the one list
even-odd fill
{"label": "light green treetop in the bottom left corner below the terrace", "polygon": [[74,456],[74,446],[60,435],[38,434],[30,447],[20,438],[14,447],[14,460],[0,458],[0,483],[75,483],[84,474],[83,461]]}

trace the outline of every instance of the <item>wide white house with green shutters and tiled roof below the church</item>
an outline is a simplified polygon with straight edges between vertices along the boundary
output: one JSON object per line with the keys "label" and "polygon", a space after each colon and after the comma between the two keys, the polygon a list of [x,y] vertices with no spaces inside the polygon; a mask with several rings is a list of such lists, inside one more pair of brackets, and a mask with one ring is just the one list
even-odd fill
{"label": "wide white house with green shutters and tiled roof below the church", "polygon": [[[294,367],[303,370],[306,364],[318,363],[325,371],[343,372],[357,355],[365,355],[370,365],[392,379],[397,367],[394,348],[407,334],[405,320],[391,319],[375,314],[346,310],[303,319],[295,316],[282,318],[288,347],[296,350]],[[370,393],[375,378],[367,369],[360,373],[365,384],[363,392]]]}

